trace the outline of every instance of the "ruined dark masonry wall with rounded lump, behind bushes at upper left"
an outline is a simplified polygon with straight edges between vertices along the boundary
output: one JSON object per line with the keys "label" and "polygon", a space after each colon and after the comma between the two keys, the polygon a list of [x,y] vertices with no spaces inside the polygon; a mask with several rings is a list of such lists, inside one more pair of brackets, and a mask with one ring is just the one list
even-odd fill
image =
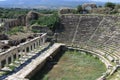
{"label": "ruined dark masonry wall with rounded lump, behind bushes at upper left", "polygon": [[1,30],[10,29],[16,26],[27,26],[29,27],[31,20],[36,20],[40,16],[39,13],[30,11],[26,15],[18,16],[16,19],[7,19],[7,18],[1,18],[0,19],[0,28]]}

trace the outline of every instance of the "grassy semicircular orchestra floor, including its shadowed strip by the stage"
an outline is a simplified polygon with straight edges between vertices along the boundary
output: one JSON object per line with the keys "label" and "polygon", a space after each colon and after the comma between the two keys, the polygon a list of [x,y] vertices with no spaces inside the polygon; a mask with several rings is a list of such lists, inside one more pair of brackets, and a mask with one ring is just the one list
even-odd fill
{"label": "grassy semicircular orchestra floor, including its shadowed strip by the stage", "polygon": [[81,52],[67,51],[55,58],[31,80],[95,80],[106,71],[99,59]]}

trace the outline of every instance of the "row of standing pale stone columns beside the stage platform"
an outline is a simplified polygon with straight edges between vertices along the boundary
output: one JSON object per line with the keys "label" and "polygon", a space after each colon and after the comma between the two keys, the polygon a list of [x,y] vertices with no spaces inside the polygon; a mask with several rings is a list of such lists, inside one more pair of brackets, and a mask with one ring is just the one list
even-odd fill
{"label": "row of standing pale stone columns beside the stage platform", "polygon": [[[45,38],[40,38],[35,43],[33,43],[30,46],[25,47],[24,49],[18,51],[17,54],[12,54],[10,57],[6,58],[5,60],[2,60],[0,62],[0,69],[5,67],[5,65],[9,65],[10,63],[14,62],[14,60],[18,59],[19,57],[24,56],[28,52],[31,52],[32,50],[38,48],[40,45],[43,45],[45,43]],[[28,49],[28,50],[27,50]]]}

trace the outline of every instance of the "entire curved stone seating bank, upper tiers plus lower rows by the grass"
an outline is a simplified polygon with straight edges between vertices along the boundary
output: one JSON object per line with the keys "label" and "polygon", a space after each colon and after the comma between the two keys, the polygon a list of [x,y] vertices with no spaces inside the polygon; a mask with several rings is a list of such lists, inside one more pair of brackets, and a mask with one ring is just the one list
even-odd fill
{"label": "entire curved stone seating bank, upper tiers plus lower rows by the grass", "polygon": [[[58,42],[97,53],[112,75],[120,65],[120,16],[61,15]],[[61,29],[61,30],[60,30]]]}

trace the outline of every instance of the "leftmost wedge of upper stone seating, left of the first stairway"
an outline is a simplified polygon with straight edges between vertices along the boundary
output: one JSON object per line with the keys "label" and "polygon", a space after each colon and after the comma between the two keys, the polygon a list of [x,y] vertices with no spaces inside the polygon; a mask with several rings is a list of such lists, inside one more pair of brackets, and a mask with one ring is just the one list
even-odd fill
{"label": "leftmost wedge of upper stone seating, left of the first stairway", "polygon": [[63,32],[58,36],[61,42],[69,43],[72,41],[71,38],[73,38],[78,21],[79,16],[61,16]]}

